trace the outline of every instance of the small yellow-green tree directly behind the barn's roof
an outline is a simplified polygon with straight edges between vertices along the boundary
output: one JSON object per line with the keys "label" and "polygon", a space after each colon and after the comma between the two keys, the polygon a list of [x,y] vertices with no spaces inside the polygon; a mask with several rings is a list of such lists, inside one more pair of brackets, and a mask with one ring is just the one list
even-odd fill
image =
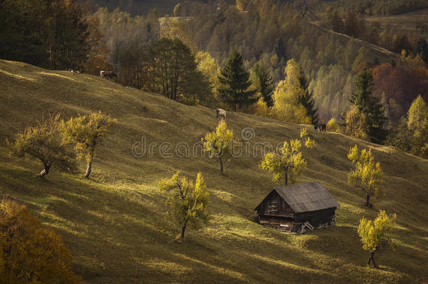
{"label": "small yellow-green tree directly behind the barn's roof", "polygon": [[[300,138],[303,140],[305,137],[305,146],[307,148],[314,147],[314,140],[307,137],[307,128],[300,130]],[[272,180],[274,181],[283,177],[286,185],[288,185],[288,181],[294,184],[306,165],[306,160],[300,151],[301,148],[301,140],[286,141],[280,149],[265,154],[260,163],[260,168],[272,173]]]}

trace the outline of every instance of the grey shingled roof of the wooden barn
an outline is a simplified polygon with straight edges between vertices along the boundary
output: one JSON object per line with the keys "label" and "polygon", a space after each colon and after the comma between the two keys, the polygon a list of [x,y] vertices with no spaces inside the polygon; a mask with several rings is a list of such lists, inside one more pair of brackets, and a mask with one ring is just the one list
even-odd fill
{"label": "grey shingled roof of the wooden barn", "polygon": [[319,182],[275,187],[274,191],[278,192],[296,213],[340,206],[330,192]]}

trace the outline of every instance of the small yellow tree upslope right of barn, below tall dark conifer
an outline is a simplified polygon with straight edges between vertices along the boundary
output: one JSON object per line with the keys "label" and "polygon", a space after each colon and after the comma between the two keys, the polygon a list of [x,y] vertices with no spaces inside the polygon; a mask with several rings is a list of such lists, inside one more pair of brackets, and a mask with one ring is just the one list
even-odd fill
{"label": "small yellow tree upslope right of barn, below tall dark conifer", "polygon": [[380,163],[375,163],[371,150],[362,149],[360,152],[356,145],[349,149],[348,158],[352,161],[348,184],[361,188],[366,193],[365,205],[370,206],[370,196],[379,198],[384,195]]}

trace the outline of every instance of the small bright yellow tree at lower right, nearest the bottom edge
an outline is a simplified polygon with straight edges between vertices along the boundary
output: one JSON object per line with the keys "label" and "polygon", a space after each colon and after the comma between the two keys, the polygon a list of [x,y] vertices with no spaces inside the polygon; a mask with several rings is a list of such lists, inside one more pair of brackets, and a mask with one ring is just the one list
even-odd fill
{"label": "small bright yellow tree at lower right, nearest the bottom edge", "polygon": [[389,217],[384,210],[380,210],[374,221],[363,218],[358,226],[358,234],[363,243],[363,249],[370,252],[367,264],[375,263],[375,252],[383,248],[394,248],[394,242],[389,238],[390,231],[394,228],[396,215]]}

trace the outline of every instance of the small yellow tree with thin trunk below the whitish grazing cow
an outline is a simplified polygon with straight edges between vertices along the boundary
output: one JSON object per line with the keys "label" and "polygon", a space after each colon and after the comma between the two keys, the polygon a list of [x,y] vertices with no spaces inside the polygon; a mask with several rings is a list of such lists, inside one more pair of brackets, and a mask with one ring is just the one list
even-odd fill
{"label": "small yellow tree with thin trunk below the whitish grazing cow", "polygon": [[223,161],[230,155],[231,148],[234,144],[234,132],[227,128],[227,123],[221,120],[215,131],[207,133],[202,138],[203,150],[209,152],[210,158],[218,158],[220,161],[220,173],[223,173]]}

